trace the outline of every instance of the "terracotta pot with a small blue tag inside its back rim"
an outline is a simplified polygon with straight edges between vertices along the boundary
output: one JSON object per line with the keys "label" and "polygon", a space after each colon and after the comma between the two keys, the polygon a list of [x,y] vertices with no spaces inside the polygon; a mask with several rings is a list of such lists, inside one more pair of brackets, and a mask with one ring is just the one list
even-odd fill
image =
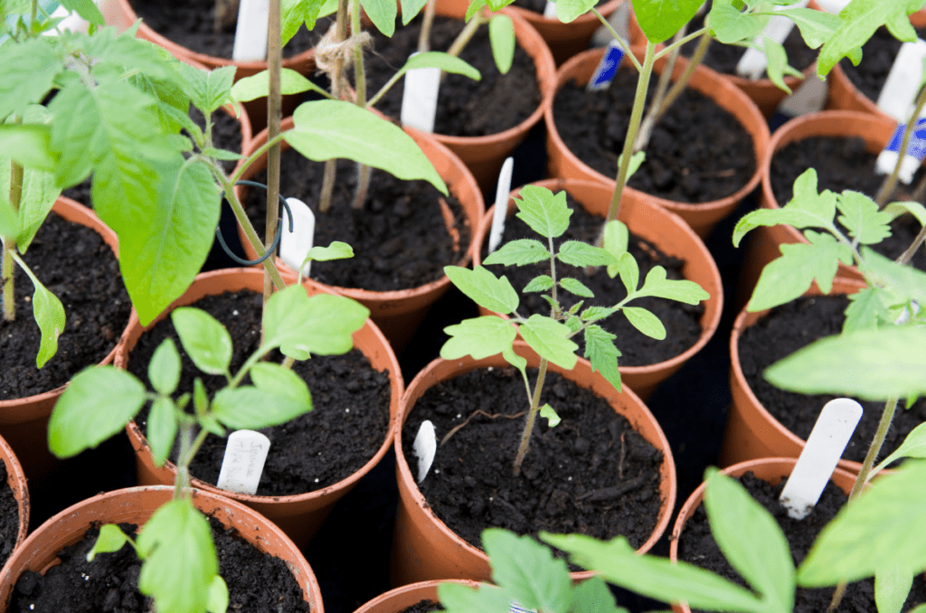
{"label": "terracotta pot with a small blue tag inside its back rim", "polygon": [[[642,61],[643,52],[640,49],[634,50],[634,54]],[[594,49],[579,54],[566,62],[562,68],[557,70],[557,87],[558,92],[569,81],[576,81],[579,85],[584,85],[592,78],[594,69],[597,67],[601,56],[604,55],[604,49]],[[629,65],[627,58],[624,62]],[[680,57],[675,65],[673,77],[678,78],[685,67],[684,58]],[[660,74],[666,65],[666,58],[661,57],[655,65],[655,73]],[[746,194],[752,192],[758,185],[760,178],[760,169],[764,163],[766,151],[769,145],[769,126],[766,124],[762,113],[758,107],[753,104],[752,100],[740,89],[733,86],[732,83],[724,81],[716,76],[713,71],[707,71],[699,67],[694,71],[694,76],[689,82],[689,86],[697,92],[711,98],[718,106],[725,109],[743,125],[745,131],[752,136],[753,151],[756,155],[756,172],[746,182],[746,184],[737,190],[734,194],[728,195],[720,200],[705,202],[699,204],[690,204],[675,202],[665,198],[658,198],[649,194],[643,194],[632,187],[625,188],[625,194],[636,193],[641,197],[649,199],[654,204],[669,209],[692,227],[698,236],[705,238],[714,226],[730,213],[745,198]],[[573,154],[563,143],[557,131],[556,121],[553,117],[553,99],[556,93],[550,95],[544,102],[544,120],[546,121],[546,153],[549,158],[548,174],[554,177],[565,179],[581,179],[583,181],[598,181],[613,187],[615,181],[611,177],[606,177],[597,170],[592,169],[582,162]]]}

